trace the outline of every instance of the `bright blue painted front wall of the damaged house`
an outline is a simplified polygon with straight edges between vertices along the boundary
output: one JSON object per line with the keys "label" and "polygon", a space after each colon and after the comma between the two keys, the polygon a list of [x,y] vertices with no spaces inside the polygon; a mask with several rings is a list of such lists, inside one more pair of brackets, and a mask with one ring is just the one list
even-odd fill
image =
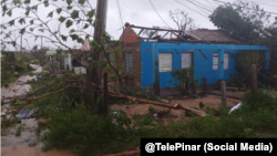
{"label": "bright blue painted front wall of the damaged house", "polygon": [[[198,50],[206,55],[207,60],[202,55]],[[268,67],[270,52],[267,46],[259,45],[226,45],[226,44],[192,44],[192,43],[161,43],[161,42],[145,42],[141,41],[141,65],[142,65],[142,74],[141,74],[141,84],[143,87],[153,86],[154,82],[160,83],[160,87],[172,87],[174,83],[170,83],[170,81],[174,82],[171,73],[160,73],[158,65],[155,64],[155,61],[158,61],[158,53],[163,52],[172,52],[173,53],[173,70],[181,69],[181,59],[182,52],[186,52],[188,50],[193,51],[193,66],[194,66],[194,77],[202,79],[206,77],[208,84],[214,84],[218,79],[224,79],[228,82],[230,75],[235,75],[237,73],[235,66],[236,62],[232,54],[238,53],[242,50],[264,50],[266,52],[266,69]],[[177,52],[176,52],[177,51]],[[218,52],[219,64],[218,70],[213,70],[213,53]],[[220,60],[224,59],[224,52],[229,53],[228,60],[228,69],[223,70],[223,64],[220,64]],[[158,73],[158,74],[155,74]]]}

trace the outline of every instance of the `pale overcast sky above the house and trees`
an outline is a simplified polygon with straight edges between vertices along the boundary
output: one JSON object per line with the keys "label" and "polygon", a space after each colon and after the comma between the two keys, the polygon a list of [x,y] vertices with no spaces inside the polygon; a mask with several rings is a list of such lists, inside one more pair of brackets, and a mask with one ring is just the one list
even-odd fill
{"label": "pale overcast sky above the house and trees", "polygon": [[[173,29],[176,29],[176,25],[170,18],[170,11],[171,10],[173,11],[176,9],[183,10],[186,13],[188,13],[188,15],[194,19],[195,24],[198,28],[216,29],[214,24],[207,18],[212,12],[204,10],[193,4],[192,2],[196,4],[201,3],[203,4],[203,7],[205,6],[206,9],[212,10],[212,11],[216,7],[222,4],[220,2],[215,2],[214,0],[191,0],[192,2],[189,2],[189,0],[177,0],[184,6],[178,3],[175,0],[151,0],[154,8],[157,11],[156,12],[154,8],[152,7],[150,0],[117,0],[117,1],[120,6],[123,24],[125,24],[125,22],[129,22],[134,25],[141,25],[141,27],[166,27],[166,24],[168,24]],[[233,2],[235,0],[219,0],[219,1]],[[260,4],[260,7],[263,7],[266,11],[277,12],[276,11],[277,0],[243,0],[243,1],[254,1]],[[92,2],[92,6],[95,8],[96,0],[91,0],[91,2]],[[39,9],[39,13],[42,17],[47,17],[47,14],[49,13],[51,9],[53,8],[41,7]],[[20,13],[22,13],[22,11],[14,12],[13,17]],[[162,19],[165,22],[163,22],[163,20],[158,17],[157,13],[162,17]],[[1,21],[7,22],[9,20],[10,18],[4,17],[3,20]],[[53,28],[57,27],[55,23],[51,23],[50,25]],[[122,33],[121,28],[122,28],[122,22],[121,22],[116,0],[109,0],[106,32],[113,35],[114,39],[116,40]],[[89,31],[93,33],[93,30],[89,30]],[[29,38],[25,35],[23,38],[29,40]],[[29,43],[31,44],[31,46],[34,44],[40,44],[40,42],[38,41],[34,42],[31,40],[29,40]],[[76,45],[78,48],[80,48],[80,44],[76,44],[70,40],[66,42],[66,44],[70,46]],[[25,40],[23,41],[23,45],[27,45]],[[54,48],[54,45],[49,42],[43,42],[43,45],[50,45]]]}

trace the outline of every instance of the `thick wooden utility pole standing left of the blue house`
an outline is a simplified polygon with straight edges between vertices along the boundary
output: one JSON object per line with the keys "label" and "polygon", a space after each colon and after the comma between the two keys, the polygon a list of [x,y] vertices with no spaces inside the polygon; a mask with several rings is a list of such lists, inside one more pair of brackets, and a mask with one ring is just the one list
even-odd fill
{"label": "thick wooden utility pole standing left of the blue house", "polygon": [[[103,43],[101,38],[102,34],[105,32],[106,28],[106,13],[107,12],[107,0],[98,0],[96,4],[96,14],[95,14],[95,29],[94,29],[94,41]],[[91,52],[93,53],[92,61],[98,62],[96,66],[88,67],[86,70],[86,87],[89,90],[95,89],[91,83],[95,83],[101,86],[102,84],[102,64],[101,61],[103,60],[103,51],[98,51],[96,49],[92,48]],[[85,94],[85,102],[86,105],[90,105],[92,112],[99,113],[96,110],[96,98],[99,97],[98,93],[90,93]]]}

